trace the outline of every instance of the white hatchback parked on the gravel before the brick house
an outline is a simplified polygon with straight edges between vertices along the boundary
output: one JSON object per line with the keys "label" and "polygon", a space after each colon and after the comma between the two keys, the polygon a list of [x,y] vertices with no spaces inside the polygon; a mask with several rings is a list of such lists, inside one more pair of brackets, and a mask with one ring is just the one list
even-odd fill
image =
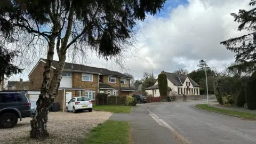
{"label": "white hatchback parked on the gravel before the brick house", "polygon": [[74,97],[67,103],[67,112],[73,111],[73,113],[76,113],[83,110],[92,111],[92,101],[87,97]]}

